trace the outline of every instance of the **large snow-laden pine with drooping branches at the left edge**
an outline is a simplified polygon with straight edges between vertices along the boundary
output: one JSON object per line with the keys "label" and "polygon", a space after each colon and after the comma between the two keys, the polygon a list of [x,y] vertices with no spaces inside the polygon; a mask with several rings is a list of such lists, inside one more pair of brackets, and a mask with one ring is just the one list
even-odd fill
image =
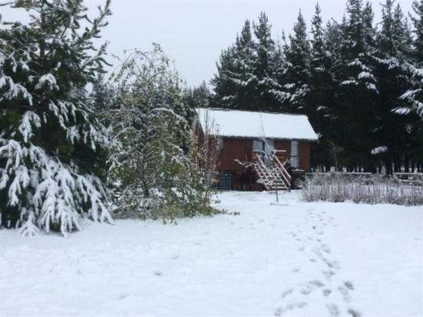
{"label": "large snow-laden pine with drooping branches at the left edge", "polygon": [[110,1],[94,20],[82,0],[11,6],[24,8],[30,22],[0,29],[1,226],[67,235],[81,217],[111,222],[100,173],[107,139],[74,93],[102,71],[105,45],[93,40]]}

